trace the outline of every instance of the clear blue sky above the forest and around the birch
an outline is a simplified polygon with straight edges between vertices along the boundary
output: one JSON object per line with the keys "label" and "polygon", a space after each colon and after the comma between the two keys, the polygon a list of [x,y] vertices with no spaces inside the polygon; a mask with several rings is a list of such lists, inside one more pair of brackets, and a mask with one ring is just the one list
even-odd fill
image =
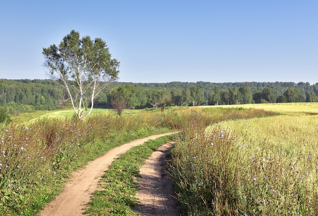
{"label": "clear blue sky above the forest and around the birch", "polygon": [[318,82],[317,0],[0,0],[0,78],[45,79],[43,47],[104,39],[123,82]]}

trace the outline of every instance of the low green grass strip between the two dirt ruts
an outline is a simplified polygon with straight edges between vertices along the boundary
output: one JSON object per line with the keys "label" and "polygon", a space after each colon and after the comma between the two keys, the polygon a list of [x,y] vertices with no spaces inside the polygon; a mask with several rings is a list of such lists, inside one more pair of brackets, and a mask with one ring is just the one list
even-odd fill
{"label": "low green grass strip between the two dirt ruts", "polygon": [[101,180],[101,190],[94,192],[85,214],[88,215],[138,215],[132,207],[138,189],[134,178],[140,178],[139,167],[161,145],[173,140],[175,135],[145,142],[116,159]]}

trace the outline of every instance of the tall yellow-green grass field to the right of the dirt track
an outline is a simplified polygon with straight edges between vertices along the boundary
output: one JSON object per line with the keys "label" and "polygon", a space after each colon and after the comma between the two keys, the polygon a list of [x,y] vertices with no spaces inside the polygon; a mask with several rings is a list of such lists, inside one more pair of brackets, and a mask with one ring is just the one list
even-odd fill
{"label": "tall yellow-green grass field to the right of the dirt track", "polygon": [[170,163],[183,213],[317,215],[317,105],[258,105],[280,115],[208,127],[189,121]]}

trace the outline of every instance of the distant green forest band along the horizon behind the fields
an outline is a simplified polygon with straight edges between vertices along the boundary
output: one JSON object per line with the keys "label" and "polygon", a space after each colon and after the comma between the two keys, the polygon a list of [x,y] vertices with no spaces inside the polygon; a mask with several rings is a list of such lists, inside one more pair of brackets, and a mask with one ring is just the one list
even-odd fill
{"label": "distant green forest band along the horizon behind the fields", "polygon": [[[317,102],[318,83],[309,82],[112,82],[96,97],[95,106],[111,108],[120,96],[126,108],[199,106],[250,103]],[[51,79],[0,79],[0,104],[11,114],[17,111],[53,110],[68,107],[68,95]],[[89,103],[87,104],[89,106]]]}

